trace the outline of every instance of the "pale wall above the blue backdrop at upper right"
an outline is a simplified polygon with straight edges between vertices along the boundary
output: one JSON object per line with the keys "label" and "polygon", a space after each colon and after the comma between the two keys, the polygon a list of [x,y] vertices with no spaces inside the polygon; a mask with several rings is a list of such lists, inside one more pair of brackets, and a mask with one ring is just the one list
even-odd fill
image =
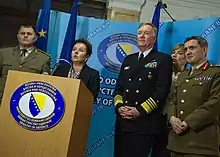
{"label": "pale wall above the blue backdrop at upper right", "polygon": [[[163,0],[163,3],[175,20],[220,17],[220,0]],[[151,21],[156,4],[157,0],[146,0],[140,21]],[[161,21],[171,21],[164,10],[161,10]]]}

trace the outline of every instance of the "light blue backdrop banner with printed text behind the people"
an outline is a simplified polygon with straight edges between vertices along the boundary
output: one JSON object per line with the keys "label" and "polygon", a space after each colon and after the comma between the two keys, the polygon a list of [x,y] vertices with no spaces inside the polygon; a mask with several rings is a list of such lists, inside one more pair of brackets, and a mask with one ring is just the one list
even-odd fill
{"label": "light blue backdrop banner with printed text behind the people", "polygon": [[[50,18],[48,52],[53,67],[59,58],[70,14],[52,11]],[[112,94],[120,65],[124,58],[138,52],[137,22],[117,22],[78,17],[76,39],[86,38],[93,46],[88,65],[99,70],[101,88],[93,107],[86,157],[112,157],[115,113]],[[220,19],[207,18],[160,23],[159,51],[171,53],[177,43],[192,35],[201,35],[209,42],[208,58],[220,63],[218,53]]]}

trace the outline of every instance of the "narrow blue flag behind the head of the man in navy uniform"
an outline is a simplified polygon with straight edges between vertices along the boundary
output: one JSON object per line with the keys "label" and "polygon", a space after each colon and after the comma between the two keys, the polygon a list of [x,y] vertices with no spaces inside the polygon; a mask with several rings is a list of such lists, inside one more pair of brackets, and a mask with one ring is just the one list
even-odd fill
{"label": "narrow blue flag behind the head of the man in navy uniform", "polygon": [[[160,25],[160,10],[162,6],[162,1],[158,1],[157,6],[154,11],[154,15],[152,18],[152,24],[157,28],[157,36],[158,36],[158,31],[159,31],[159,25]],[[154,50],[158,50],[158,43],[157,40],[154,44]]]}

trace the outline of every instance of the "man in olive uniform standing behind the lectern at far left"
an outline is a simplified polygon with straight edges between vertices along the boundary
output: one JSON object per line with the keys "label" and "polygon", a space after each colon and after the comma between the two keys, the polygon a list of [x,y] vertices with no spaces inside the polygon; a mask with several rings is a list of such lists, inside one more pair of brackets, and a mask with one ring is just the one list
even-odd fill
{"label": "man in olive uniform standing behind the lectern at far left", "polygon": [[37,40],[35,28],[31,25],[21,25],[17,39],[18,46],[0,49],[0,102],[8,70],[50,73],[50,57],[34,47],[34,42]]}

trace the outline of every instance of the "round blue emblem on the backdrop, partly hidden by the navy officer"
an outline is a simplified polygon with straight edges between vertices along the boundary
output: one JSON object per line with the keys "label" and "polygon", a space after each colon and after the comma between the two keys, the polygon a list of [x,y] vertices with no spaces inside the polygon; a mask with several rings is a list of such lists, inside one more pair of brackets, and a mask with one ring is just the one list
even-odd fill
{"label": "round blue emblem on the backdrop, partly hidden by the navy officer", "polygon": [[138,52],[137,35],[129,33],[113,34],[98,46],[98,59],[105,69],[119,73],[125,57]]}

